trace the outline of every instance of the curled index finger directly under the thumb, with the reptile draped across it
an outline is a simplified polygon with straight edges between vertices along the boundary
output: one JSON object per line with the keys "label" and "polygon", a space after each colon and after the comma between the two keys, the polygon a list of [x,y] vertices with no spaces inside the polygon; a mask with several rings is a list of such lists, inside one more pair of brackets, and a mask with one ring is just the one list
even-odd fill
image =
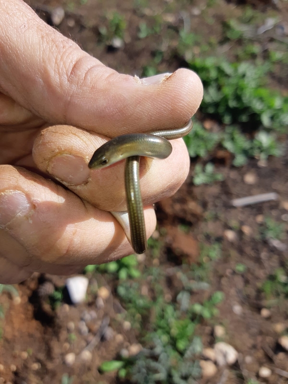
{"label": "curled index finger directly under the thumb, with the reptile draped across it", "polygon": [[[52,126],[36,138],[33,159],[38,168],[65,184],[92,205],[106,211],[126,210],[124,162],[91,170],[93,152],[107,139],[72,126]],[[140,185],[144,206],[173,195],[189,171],[190,160],[183,140],[171,141],[172,154],[165,160],[142,158]]]}

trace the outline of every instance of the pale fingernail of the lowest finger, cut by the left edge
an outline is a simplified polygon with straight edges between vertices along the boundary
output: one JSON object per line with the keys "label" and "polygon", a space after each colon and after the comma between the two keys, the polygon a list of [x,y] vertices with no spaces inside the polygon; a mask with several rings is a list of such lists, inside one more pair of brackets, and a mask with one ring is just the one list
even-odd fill
{"label": "pale fingernail of the lowest finger, cut by the left edge", "polygon": [[7,191],[0,194],[0,228],[5,227],[15,217],[22,217],[31,211],[31,204],[24,193]]}

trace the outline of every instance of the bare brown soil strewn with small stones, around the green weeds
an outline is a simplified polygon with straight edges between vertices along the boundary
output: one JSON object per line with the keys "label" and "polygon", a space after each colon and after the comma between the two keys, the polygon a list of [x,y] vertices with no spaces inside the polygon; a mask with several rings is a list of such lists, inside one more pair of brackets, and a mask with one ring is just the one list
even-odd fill
{"label": "bare brown soil strewn with small stones, around the green weeds", "polygon": [[[143,73],[142,68],[150,65],[159,46],[167,43],[165,35],[134,38],[139,22],[147,19],[149,24],[149,15],[163,11],[166,19],[170,20],[165,30],[169,34],[170,29],[183,23],[180,11],[191,15],[201,4],[188,0],[179,3],[153,1],[152,7],[151,2],[143,1],[140,7],[128,0],[121,3],[108,0],[105,4],[92,0],[31,1],[31,5],[36,6],[36,12],[48,22],[51,9],[62,5],[66,10],[65,17],[57,28],[63,34],[71,36],[104,64],[119,72],[139,76]],[[221,22],[240,12],[235,3],[221,4],[223,6],[206,11],[215,20],[205,24],[207,36],[219,35]],[[267,14],[273,8],[273,3],[259,2],[256,5]],[[112,10],[124,14],[127,22],[124,46],[120,49],[107,45],[99,32],[99,27],[107,23],[106,12]],[[192,30],[201,28],[201,14],[193,16],[192,20]],[[173,54],[175,44],[176,41],[170,40],[158,67],[159,72],[172,72],[183,64],[183,59]],[[187,182],[175,196],[157,205],[158,232],[162,244],[159,262],[164,273],[177,267],[183,258],[190,265],[197,263],[199,247],[207,239],[213,238],[222,244],[222,257],[214,263],[209,292],[223,291],[225,300],[219,305],[219,315],[213,322],[225,326],[227,333],[224,340],[239,352],[240,357],[229,370],[219,369],[215,377],[199,379],[198,383],[242,384],[254,377],[263,383],[288,383],[288,376],[277,371],[288,371],[288,353],[278,342],[280,335],[288,329],[288,301],[280,292],[277,303],[272,302],[261,290],[276,269],[288,266],[288,151],[281,158],[270,158],[266,166],[252,159],[246,166],[235,168],[227,153],[221,159],[215,156],[214,160],[217,171],[226,176],[224,181],[194,186],[193,161]],[[247,175],[250,176],[249,183]],[[267,192],[276,192],[279,198],[243,208],[235,208],[231,204],[232,199]],[[283,224],[286,237],[282,244],[286,245],[286,249],[261,237],[266,216]],[[188,230],[179,231],[179,225],[188,227]],[[233,238],[229,237],[227,230],[233,231]],[[153,265],[150,256],[148,253],[145,260],[140,260],[141,268]],[[246,266],[245,273],[236,272],[239,264]],[[114,295],[114,282],[105,280],[101,275],[91,278],[84,304],[72,306],[62,303],[52,308],[46,300],[47,295],[51,289],[62,287],[65,279],[35,274],[16,286],[19,297],[5,292],[0,295],[0,304],[5,312],[4,319],[0,319],[0,384],[64,384],[65,373],[74,377],[73,384],[117,383],[115,373],[100,375],[98,367],[103,361],[115,359],[121,349],[137,345],[139,331],[129,329],[124,321],[125,310]],[[165,287],[166,293],[174,298],[179,292],[179,285],[179,279],[174,276]],[[108,292],[102,301],[97,300],[95,294],[101,286],[106,287]],[[201,295],[205,296],[205,293]],[[196,299],[198,296],[195,294]],[[267,318],[261,313],[263,308],[270,311]],[[101,334],[103,321],[110,327],[104,337]],[[204,321],[197,330],[203,338],[204,347],[212,347],[215,343],[213,322]],[[79,324],[82,328],[76,326]],[[90,342],[97,342],[97,345],[92,350],[92,360],[85,362],[78,357]],[[69,353],[76,356],[73,364],[64,363]],[[262,366],[272,370],[268,379],[259,379],[258,372]]]}

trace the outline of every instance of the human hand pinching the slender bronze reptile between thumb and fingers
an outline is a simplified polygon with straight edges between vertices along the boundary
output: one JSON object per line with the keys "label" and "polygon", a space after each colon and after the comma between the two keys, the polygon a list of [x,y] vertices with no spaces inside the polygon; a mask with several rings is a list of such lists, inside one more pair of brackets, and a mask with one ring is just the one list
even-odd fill
{"label": "human hand pinching the slender bronze reptile between thumb and fingers", "polygon": [[[202,93],[187,69],[161,83],[119,74],[23,1],[0,0],[0,283],[132,253],[109,213],[125,209],[123,162],[91,171],[89,159],[108,138],[180,127]],[[172,145],[168,159],[140,167],[147,236],[156,224],[151,204],[188,174],[183,140]]]}

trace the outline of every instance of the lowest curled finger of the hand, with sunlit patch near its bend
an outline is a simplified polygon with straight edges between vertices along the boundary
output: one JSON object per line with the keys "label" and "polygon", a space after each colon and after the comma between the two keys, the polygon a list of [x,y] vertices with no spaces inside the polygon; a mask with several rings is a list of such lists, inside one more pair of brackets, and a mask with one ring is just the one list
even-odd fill
{"label": "lowest curled finger of the hand, with sunlit patch near its bend", "polygon": [[[110,213],[22,168],[0,166],[0,175],[0,243],[11,263],[28,272],[69,274],[133,252]],[[145,221],[150,236],[152,208]]]}

